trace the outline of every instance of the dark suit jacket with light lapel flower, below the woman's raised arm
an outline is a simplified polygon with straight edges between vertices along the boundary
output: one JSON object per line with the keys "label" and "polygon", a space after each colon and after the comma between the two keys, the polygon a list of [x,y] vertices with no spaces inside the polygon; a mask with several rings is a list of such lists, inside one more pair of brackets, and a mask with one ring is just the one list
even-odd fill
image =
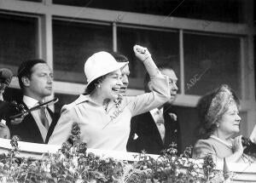
{"label": "dark suit jacket with light lapel flower, below the woman's raised arm", "polygon": [[[160,137],[160,132],[154,122],[150,112],[140,114],[131,118],[131,133],[127,143],[128,152],[142,152],[143,150],[150,154],[160,154],[172,142],[177,144],[178,153],[181,152],[181,134],[179,123],[174,121],[168,114],[170,111],[164,109],[165,118],[165,143]],[[138,138],[134,140],[137,134]]]}

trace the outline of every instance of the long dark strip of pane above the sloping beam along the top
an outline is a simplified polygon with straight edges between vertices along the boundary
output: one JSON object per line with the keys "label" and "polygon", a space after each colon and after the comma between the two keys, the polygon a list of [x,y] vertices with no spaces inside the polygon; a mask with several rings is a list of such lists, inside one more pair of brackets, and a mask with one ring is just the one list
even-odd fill
{"label": "long dark strip of pane above the sloping beam along the top", "polygon": [[199,20],[240,22],[241,7],[244,2],[241,0],[53,0],[53,3]]}

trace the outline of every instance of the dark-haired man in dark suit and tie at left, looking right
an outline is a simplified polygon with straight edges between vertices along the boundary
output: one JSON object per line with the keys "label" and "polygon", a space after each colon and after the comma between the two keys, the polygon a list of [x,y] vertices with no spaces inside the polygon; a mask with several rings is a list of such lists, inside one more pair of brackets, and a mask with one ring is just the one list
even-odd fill
{"label": "dark-haired man in dark suit and tie at left, looking right", "polygon": [[[44,60],[26,60],[18,70],[20,89],[23,100],[20,104],[25,110],[45,102],[45,97],[52,94],[53,73]],[[44,107],[29,112],[19,124],[9,127],[11,135],[18,135],[22,141],[47,143],[52,134],[57,117]]]}

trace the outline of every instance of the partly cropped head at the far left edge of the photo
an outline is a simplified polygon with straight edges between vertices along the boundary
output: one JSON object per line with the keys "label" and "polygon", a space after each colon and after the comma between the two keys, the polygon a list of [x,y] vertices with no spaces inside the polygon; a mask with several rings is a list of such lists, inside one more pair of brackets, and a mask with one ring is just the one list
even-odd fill
{"label": "partly cropped head at the far left edge of the photo", "polygon": [[12,81],[13,72],[9,69],[0,69],[0,94],[3,94],[4,89],[9,86]]}

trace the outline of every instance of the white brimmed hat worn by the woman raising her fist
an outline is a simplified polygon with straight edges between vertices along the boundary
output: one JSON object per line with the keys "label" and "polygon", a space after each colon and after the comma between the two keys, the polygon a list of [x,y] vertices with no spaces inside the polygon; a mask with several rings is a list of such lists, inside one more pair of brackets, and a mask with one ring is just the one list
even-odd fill
{"label": "white brimmed hat worn by the woman raising her fist", "polygon": [[102,77],[112,71],[116,71],[126,64],[128,64],[128,62],[117,62],[111,54],[105,51],[92,54],[84,64],[87,86],[96,78]]}

